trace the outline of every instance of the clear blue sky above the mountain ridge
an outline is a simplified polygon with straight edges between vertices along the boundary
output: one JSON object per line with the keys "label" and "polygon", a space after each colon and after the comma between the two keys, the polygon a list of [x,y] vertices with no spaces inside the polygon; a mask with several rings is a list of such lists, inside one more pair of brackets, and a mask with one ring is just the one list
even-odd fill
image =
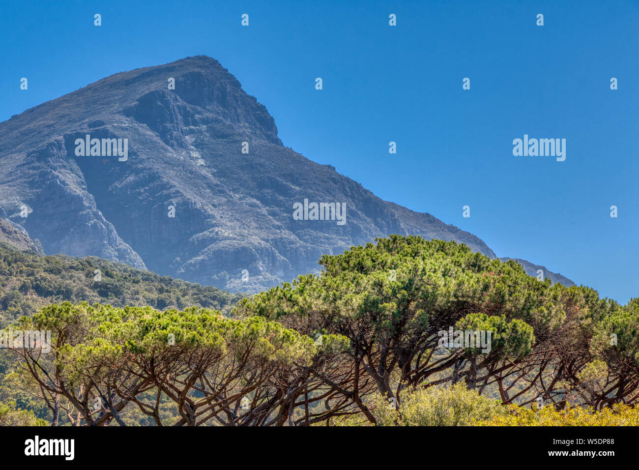
{"label": "clear blue sky above the mountain ridge", "polygon": [[[3,0],[0,120],[206,54],[266,106],[284,145],[497,256],[626,302],[639,296],[639,2],[557,3]],[[565,138],[566,161],[514,157],[523,134]]]}

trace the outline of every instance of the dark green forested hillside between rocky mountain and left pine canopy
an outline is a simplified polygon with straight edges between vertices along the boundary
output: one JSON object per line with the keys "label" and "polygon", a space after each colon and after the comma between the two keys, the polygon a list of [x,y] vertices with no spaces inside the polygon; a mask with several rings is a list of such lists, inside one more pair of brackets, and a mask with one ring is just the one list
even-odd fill
{"label": "dark green forested hillside between rocky mountain and left pine canopy", "polygon": [[38,256],[0,243],[0,326],[63,301],[227,311],[240,298],[242,294],[158,276],[95,256]]}

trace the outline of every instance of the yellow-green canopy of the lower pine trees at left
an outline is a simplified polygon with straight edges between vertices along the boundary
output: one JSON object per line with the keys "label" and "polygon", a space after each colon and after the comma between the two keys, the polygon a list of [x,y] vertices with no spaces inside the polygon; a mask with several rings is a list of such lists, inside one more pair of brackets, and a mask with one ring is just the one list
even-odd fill
{"label": "yellow-green canopy of the lower pine trees at left", "polygon": [[[230,349],[245,359],[250,356],[284,362],[293,358],[310,361],[319,349],[348,347],[348,340],[339,336],[324,335],[319,346],[308,336],[262,317],[235,320],[219,311],[196,307],[157,311],[151,307],[64,302],[42,308],[33,317],[23,317],[20,323],[23,329],[50,329],[54,346],[62,342],[57,363],[70,380],[105,360],[116,364],[118,359],[127,360],[132,355],[155,357],[170,350],[172,344],[190,350],[190,354],[203,350],[223,354]],[[66,343],[68,338],[77,343]]]}

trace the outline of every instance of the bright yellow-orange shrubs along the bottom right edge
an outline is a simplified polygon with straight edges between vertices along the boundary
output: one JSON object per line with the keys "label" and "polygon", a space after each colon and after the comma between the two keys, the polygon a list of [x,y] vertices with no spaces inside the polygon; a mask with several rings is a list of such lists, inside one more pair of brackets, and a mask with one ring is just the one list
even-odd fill
{"label": "bright yellow-orange shrubs along the bottom right edge", "polygon": [[593,411],[591,408],[570,408],[562,411],[552,406],[527,409],[511,405],[511,413],[491,419],[477,419],[475,426],[638,426],[639,408],[617,403],[612,409]]}

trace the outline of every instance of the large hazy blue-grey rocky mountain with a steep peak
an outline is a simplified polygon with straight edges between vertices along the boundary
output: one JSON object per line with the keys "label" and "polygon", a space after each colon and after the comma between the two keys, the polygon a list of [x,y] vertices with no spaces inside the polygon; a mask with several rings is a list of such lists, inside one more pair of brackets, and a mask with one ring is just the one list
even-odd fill
{"label": "large hazy blue-grey rocky mountain with a steep peak", "polygon": [[[128,139],[126,161],[77,155],[87,134]],[[392,233],[456,240],[495,258],[475,235],[282,145],[266,108],[207,56],[111,75],[12,116],[0,123],[0,156],[0,216],[47,254],[244,292]],[[345,203],[346,223],[294,219],[305,200]]]}

